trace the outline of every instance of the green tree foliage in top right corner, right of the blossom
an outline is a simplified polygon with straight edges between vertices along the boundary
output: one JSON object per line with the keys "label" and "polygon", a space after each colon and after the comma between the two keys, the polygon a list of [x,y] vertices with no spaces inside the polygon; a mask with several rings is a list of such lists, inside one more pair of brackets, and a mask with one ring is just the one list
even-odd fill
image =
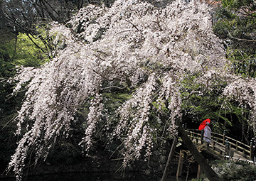
{"label": "green tree foliage in top right corner, right of the blossom", "polygon": [[214,31],[225,40],[227,56],[235,72],[255,77],[256,3],[251,0],[223,0],[215,13]]}

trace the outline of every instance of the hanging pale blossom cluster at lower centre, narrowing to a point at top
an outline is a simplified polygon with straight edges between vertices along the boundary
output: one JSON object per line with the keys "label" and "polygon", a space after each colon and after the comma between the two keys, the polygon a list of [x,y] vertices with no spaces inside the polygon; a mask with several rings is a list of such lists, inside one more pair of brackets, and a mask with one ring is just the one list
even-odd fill
{"label": "hanging pale blossom cluster at lower centre, narrowing to a point at top", "polygon": [[119,138],[124,136],[124,133],[127,135],[124,139],[124,165],[127,165],[129,160],[139,158],[144,146],[147,148],[146,156],[150,155],[153,146],[151,132],[155,130],[149,123],[149,111],[155,80],[155,74],[152,73],[148,81],[117,111],[120,121],[113,134]]}

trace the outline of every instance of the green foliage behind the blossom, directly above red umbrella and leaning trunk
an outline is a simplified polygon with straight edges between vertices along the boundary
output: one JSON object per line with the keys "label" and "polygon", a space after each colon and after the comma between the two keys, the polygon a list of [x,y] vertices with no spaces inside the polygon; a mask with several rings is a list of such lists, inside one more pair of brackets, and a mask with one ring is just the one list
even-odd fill
{"label": "green foliage behind the blossom, directly above red umbrella and leaning trunk", "polygon": [[211,80],[218,82],[218,87],[208,89],[203,84],[194,84],[193,79],[195,77],[188,77],[183,82],[186,89],[182,95],[183,123],[186,123],[188,128],[197,129],[203,120],[210,119],[213,131],[222,133],[225,126],[231,125],[227,119],[231,111],[229,107],[223,107],[225,99],[220,97],[225,82],[220,79]]}

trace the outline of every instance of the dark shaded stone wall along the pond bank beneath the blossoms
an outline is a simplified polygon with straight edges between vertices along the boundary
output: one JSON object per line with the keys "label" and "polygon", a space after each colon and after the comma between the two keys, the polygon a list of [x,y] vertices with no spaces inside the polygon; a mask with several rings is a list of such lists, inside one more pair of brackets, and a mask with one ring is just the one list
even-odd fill
{"label": "dark shaded stone wall along the pond bank beneath the blossoms", "polygon": [[[169,156],[169,151],[171,149],[171,143],[166,140],[158,141],[158,143],[153,147],[152,154],[148,161],[136,160],[134,163],[129,165],[125,172],[140,172],[142,175],[146,176],[157,176],[161,177],[164,172],[166,161]],[[176,152],[179,152],[176,148]],[[171,168],[169,169],[170,175],[176,175],[178,165],[177,154],[176,157],[172,159]],[[122,168],[122,160],[120,159],[109,159],[104,155],[97,156],[86,156],[83,157],[79,163],[72,165],[50,165],[43,163],[36,166],[29,172],[29,175],[47,175],[47,174],[57,174],[57,173],[114,173]],[[193,167],[192,167],[193,168]],[[183,167],[183,170],[186,168]],[[191,173],[196,173],[197,170],[192,170]],[[11,174],[9,174],[11,176]],[[4,175],[0,176],[4,177]]]}

